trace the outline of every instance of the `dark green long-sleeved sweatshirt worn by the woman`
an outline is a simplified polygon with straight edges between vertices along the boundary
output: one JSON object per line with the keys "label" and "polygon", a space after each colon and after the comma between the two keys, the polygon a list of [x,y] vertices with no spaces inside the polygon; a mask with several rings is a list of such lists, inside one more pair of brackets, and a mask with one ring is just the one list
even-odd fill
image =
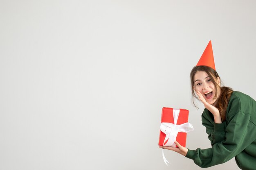
{"label": "dark green long-sleeved sweatshirt worn by the woman", "polygon": [[188,150],[186,157],[207,168],[235,157],[242,170],[256,170],[256,101],[241,92],[233,92],[227,106],[226,120],[214,123],[207,109],[202,113],[202,124],[212,148]]}

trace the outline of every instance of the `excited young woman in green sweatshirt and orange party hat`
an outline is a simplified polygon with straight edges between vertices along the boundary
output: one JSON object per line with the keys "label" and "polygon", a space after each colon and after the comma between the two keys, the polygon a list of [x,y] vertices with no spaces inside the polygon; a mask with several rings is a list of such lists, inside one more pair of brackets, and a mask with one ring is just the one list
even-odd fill
{"label": "excited young woman in green sweatshirt and orange party hat", "polygon": [[246,94],[220,86],[214,60],[209,64],[209,54],[213,59],[211,41],[208,47],[210,53],[205,54],[206,49],[202,55],[207,60],[198,62],[190,75],[193,97],[205,107],[202,124],[212,147],[189,150],[175,141],[178,148],[164,146],[164,149],[193,159],[202,168],[225,163],[235,157],[242,170],[256,170],[256,101]]}

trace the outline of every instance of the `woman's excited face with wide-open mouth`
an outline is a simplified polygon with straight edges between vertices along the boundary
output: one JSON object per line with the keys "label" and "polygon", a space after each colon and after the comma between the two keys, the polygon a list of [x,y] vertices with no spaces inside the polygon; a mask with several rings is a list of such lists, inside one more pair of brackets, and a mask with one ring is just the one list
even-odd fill
{"label": "woman's excited face with wide-open mouth", "polygon": [[[220,86],[220,78],[218,77],[215,81]],[[217,93],[216,88],[206,72],[197,71],[195,73],[193,89],[196,92],[200,92],[208,103],[211,105],[216,105],[216,101],[218,100],[220,94],[217,94],[216,99],[213,99]]]}

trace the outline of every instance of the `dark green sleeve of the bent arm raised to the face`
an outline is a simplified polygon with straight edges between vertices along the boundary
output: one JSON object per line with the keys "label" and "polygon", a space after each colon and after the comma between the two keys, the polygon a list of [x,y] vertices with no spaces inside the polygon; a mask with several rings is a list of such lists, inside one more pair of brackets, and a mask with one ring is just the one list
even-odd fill
{"label": "dark green sleeve of the bent arm raised to the face", "polygon": [[225,139],[225,123],[215,123],[211,112],[202,114],[202,124],[206,127],[206,133],[211,141],[211,146]]}

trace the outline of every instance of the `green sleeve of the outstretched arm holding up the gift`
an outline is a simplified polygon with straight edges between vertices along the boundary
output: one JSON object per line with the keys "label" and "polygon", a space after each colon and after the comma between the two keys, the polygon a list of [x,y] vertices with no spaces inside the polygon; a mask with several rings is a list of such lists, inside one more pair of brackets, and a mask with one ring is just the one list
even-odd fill
{"label": "green sleeve of the outstretched arm holding up the gift", "polygon": [[229,116],[224,140],[214,144],[212,148],[189,150],[186,157],[193,159],[198,166],[207,168],[229,161],[254,139],[255,124],[250,121],[250,114],[238,111]]}

